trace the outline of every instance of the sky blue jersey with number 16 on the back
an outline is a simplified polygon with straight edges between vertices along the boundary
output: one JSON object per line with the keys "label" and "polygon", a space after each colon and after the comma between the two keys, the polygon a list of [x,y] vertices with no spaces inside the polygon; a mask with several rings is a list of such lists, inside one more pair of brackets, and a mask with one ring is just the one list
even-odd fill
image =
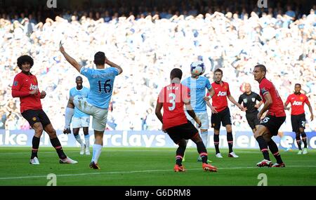
{"label": "sky blue jersey with number 16 on the back", "polygon": [[87,102],[95,107],[107,109],[112,97],[114,79],[119,75],[119,69],[115,67],[106,69],[81,67],[80,74],[86,76],[90,84]]}

